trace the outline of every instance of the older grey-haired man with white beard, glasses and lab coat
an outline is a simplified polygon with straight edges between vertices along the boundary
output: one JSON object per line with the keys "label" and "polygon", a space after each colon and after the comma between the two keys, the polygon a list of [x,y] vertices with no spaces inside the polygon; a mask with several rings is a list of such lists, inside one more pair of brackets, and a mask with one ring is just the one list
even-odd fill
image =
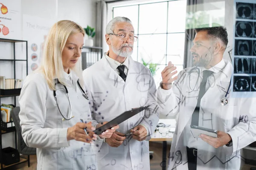
{"label": "older grey-haired man with white beard, glasses and lab coat", "polygon": [[[151,72],[131,58],[134,28],[126,17],[113,18],[106,27],[109,51],[83,72],[91,97],[93,119],[110,121],[125,111],[150,105],[119,125],[111,138],[103,139],[97,163],[100,170],[149,170],[148,140],[159,120],[156,87]],[[125,136],[125,134],[132,135]]]}

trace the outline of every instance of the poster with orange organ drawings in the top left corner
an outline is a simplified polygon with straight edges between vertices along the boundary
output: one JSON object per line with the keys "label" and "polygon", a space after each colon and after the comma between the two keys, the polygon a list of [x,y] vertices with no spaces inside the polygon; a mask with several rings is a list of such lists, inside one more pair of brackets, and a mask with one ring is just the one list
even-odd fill
{"label": "poster with orange organ drawings in the top left corner", "polygon": [[0,38],[20,40],[21,0],[0,1]]}

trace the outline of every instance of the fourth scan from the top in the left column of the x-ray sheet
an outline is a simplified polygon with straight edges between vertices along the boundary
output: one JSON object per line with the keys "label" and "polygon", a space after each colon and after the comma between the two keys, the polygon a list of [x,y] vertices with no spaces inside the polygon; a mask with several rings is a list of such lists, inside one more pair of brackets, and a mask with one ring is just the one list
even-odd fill
{"label": "fourth scan from the top in the left column of the x-ray sheet", "polygon": [[251,58],[235,57],[234,73],[250,74],[251,73]]}

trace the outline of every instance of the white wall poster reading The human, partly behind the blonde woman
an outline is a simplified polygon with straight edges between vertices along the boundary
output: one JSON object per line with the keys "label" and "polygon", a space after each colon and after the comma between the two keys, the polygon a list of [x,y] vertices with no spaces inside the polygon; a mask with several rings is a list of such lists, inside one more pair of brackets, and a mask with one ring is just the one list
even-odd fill
{"label": "white wall poster reading The human, partly behind the blonde woman", "polygon": [[28,74],[40,65],[44,40],[54,23],[48,18],[23,15],[23,39],[28,41]]}

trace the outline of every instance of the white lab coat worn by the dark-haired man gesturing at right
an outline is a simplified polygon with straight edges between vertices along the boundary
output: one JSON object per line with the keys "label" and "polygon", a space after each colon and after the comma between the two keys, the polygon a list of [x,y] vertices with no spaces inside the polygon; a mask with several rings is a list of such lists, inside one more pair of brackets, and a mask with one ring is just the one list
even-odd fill
{"label": "white lab coat worn by the dark-haired man gesturing at right", "polygon": [[[227,60],[226,66],[222,70],[221,76],[215,79],[215,84],[207,90],[201,99],[200,114],[212,113],[217,116],[215,124],[217,129],[229,133],[233,140],[233,147],[219,147],[215,149],[202,139],[198,138],[198,159],[197,170],[239,170],[240,169],[240,149],[256,141],[256,113],[255,99],[252,98],[230,98],[228,104],[222,106],[221,98],[230,84],[230,77],[233,67]],[[164,114],[175,115],[179,112],[179,118],[170,150],[168,170],[187,170],[186,136],[184,127],[191,121],[192,113],[197,104],[199,86],[201,78],[195,89],[189,88],[189,71],[186,68],[178,74],[178,79],[172,86],[169,99],[163,89],[157,90],[159,103],[163,102]],[[191,87],[195,87],[198,73],[192,72],[190,77]],[[225,91],[225,92],[224,92]],[[165,102],[166,100],[166,102]],[[204,108],[202,110],[202,108]],[[248,121],[239,123],[240,116],[248,116]],[[200,120],[201,117],[199,117]],[[199,121],[199,126],[202,126]],[[249,127],[250,124],[250,127]],[[180,154],[181,153],[181,154]],[[213,159],[211,159],[214,157]],[[219,159],[219,160],[218,160]]]}

